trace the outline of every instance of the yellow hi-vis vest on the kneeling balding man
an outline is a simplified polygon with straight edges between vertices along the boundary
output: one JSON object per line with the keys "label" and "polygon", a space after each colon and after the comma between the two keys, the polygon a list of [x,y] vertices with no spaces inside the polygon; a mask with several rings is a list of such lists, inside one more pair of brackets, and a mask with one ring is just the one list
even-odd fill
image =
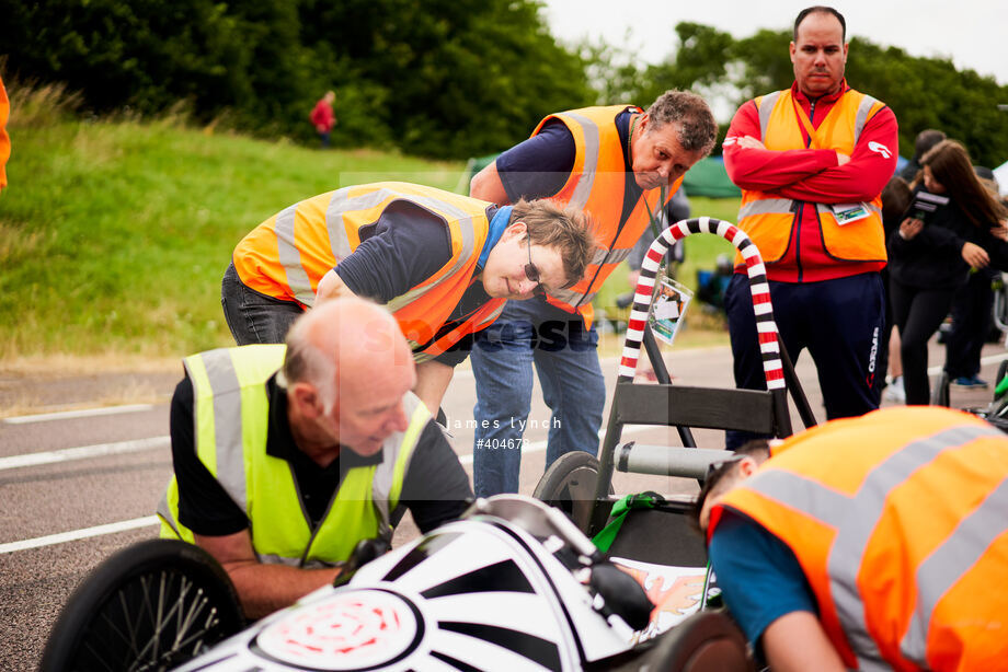
{"label": "yellow hi-vis vest on the kneeling balding man", "polygon": [[[312,528],[290,464],[266,454],[270,401],[265,383],[280,368],[285,351],[284,345],[253,345],[185,358],[193,382],[196,453],[248,514],[252,547],[261,563],[333,565],[350,558],[360,540],[390,536],[390,517],[431,414],[413,393],[406,393],[406,430],[386,440],[380,464],[346,472],[325,518]],[[193,543],[192,531],[179,523],[174,476],[158,515],[162,537]]]}

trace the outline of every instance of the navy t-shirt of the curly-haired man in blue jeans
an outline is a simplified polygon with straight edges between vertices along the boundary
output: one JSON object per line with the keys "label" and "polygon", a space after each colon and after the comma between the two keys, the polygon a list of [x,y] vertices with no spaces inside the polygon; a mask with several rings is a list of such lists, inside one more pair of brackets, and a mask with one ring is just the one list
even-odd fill
{"label": "navy t-shirt of the curly-haired man in blue jeans", "polygon": [[[644,193],[633,178],[630,157],[627,153],[631,116],[632,112],[629,108],[616,115],[616,130],[619,134],[626,171],[620,228],[633,212],[637,201]],[[547,121],[539,134],[514,146],[496,159],[497,174],[501,176],[501,184],[504,185],[508,200],[517,202],[519,198],[548,198],[555,195],[566,184],[574,169],[575,155],[574,136],[571,135],[566,125],[560,119]],[[602,242],[610,243],[611,241]]]}

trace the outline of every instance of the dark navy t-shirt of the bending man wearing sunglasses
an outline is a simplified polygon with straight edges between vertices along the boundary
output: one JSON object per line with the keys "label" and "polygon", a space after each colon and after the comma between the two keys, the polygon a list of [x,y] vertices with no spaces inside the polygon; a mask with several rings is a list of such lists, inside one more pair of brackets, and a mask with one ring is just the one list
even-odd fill
{"label": "dark navy t-shirt of the bending man wearing sunglasses", "polygon": [[[493,219],[496,211],[496,206],[490,206],[486,218]],[[444,220],[412,201],[400,200],[390,204],[377,222],[360,229],[360,244],[336,265],[336,275],[356,296],[388,303],[433,276],[450,258],[451,236]],[[477,267],[473,275],[481,270]],[[473,281],[440,331],[455,328],[488,301],[483,283]],[[455,367],[469,350],[459,345],[435,359]]]}

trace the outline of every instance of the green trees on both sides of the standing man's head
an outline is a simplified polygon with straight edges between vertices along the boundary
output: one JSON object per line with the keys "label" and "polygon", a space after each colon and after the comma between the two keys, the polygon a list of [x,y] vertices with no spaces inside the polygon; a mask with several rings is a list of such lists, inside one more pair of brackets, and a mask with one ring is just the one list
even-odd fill
{"label": "green trees on both sides of the standing man's head", "polygon": [[[604,93],[648,101],[668,88],[718,92],[738,105],[787,89],[794,81],[788,44],[791,31],[761,30],[745,38],[697,23],[675,27],[678,47],[663,63],[638,67],[625,49],[596,49],[594,81]],[[900,124],[900,153],[910,158],[914,139],[927,128],[963,142],[978,164],[1008,160],[1008,85],[947,58],[910,56],[860,37],[850,39],[846,76],[855,89],[885,102]],[[722,132],[725,129],[722,128]]]}

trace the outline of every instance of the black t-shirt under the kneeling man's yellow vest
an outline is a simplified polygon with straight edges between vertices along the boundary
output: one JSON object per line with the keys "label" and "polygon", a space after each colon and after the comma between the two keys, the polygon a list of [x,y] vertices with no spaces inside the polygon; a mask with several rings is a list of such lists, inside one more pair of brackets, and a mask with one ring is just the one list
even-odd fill
{"label": "black t-shirt under the kneeling man's yellow vest", "polygon": [[[271,378],[266,382],[270,421],[266,453],[286,460],[294,473],[301,503],[318,524],[342,485],[346,472],[377,464],[381,453],[360,456],[348,448],[321,467],[301,452],[287,421],[287,393]],[[179,522],[205,536],[234,534],[249,528],[249,518],[196,455],[193,424],[193,384],[188,376],[175,387],[171,405],[172,463],[179,482]],[[442,430],[432,420],[413,450],[403,482],[400,506],[413,514],[422,532],[458,518],[472,498],[469,477]]]}

